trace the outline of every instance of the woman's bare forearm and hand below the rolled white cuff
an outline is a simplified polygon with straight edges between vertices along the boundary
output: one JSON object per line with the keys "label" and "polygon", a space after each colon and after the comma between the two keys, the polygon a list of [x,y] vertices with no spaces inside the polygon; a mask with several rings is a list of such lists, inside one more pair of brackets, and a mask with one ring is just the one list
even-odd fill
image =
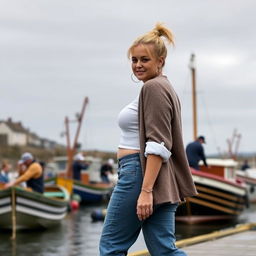
{"label": "woman's bare forearm and hand below the rolled white cuff", "polygon": [[163,159],[158,155],[148,155],[141,193],[137,201],[139,220],[145,220],[153,213],[153,188]]}

